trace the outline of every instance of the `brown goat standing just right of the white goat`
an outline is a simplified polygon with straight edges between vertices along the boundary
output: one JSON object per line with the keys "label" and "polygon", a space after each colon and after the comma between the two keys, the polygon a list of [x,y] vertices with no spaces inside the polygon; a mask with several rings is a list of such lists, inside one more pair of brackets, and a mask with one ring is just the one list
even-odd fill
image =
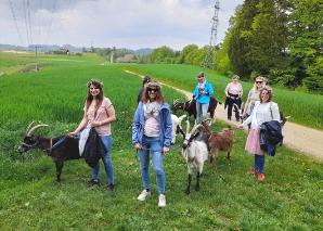
{"label": "brown goat standing just right of the white goat", "polygon": [[201,125],[203,126],[203,131],[206,133],[205,141],[209,149],[210,163],[212,164],[214,168],[216,168],[219,151],[225,151],[228,153],[227,158],[230,159],[233,147],[234,131],[229,128],[223,129],[220,132],[211,132],[208,120],[203,120]]}

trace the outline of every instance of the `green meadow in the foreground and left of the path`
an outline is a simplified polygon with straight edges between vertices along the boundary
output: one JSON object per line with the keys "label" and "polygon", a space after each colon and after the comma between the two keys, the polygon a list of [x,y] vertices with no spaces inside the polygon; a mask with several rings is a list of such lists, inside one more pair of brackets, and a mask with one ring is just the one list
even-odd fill
{"label": "green meadow in the foreground and left of the path", "polygon": [[[80,57],[81,65],[62,60],[65,57],[51,56],[38,73],[0,78],[1,230],[323,229],[322,164],[279,147],[275,157],[267,157],[267,178],[258,183],[255,177],[246,175],[253,158],[244,153],[246,134],[240,130],[235,131],[232,159],[227,161],[221,153],[216,171],[206,163],[201,191],[193,190],[189,196],[184,194],[186,166],[181,156],[181,142],[171,146],[165,157],[167,207],[157,207],[153,172],[153,194],[139,203],[141,178],[131,146],[131,123],[141,79],[125,73],[124,66],[99,65],[100,57]],[[135,68],[139,67],[135,65]],[[172,66],[164,68],[169,77],[163,75],[162,68],[158,73],[151,72],[155,72],[154,77],[190,90],[184,77],[171,80]],[[193,84],[195,67],[186,68]],[[152,65],[152,69],[156,67]],[[31,120],[50,125],[38,131],[47,137],[73,130],[82,116],[86,84],[93,77],[103,80],[104,93],[116,108],[112,152],[115,192],[108,191],[104,183],[88,188],[90,168],[83,161],[66,163],[62,182],[56,183],[54,164],[41,151],[23,155],[15,151]],[[168,88],[163,91],[168,102],[183,98]],[[225,125],[217,123],[212,129],[222,127]],[[101,178],[105,180],[103,169]]]}

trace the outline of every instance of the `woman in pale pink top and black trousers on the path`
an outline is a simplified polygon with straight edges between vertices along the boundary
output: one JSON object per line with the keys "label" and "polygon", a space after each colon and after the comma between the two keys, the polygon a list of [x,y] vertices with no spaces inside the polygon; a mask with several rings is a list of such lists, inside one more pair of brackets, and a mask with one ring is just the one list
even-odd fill
{"label": "woman in pale pink top and black trousers on the path", "polygon": [[[227,85],[224,93],[227,95],[225,106],[228,105],[228,120],[231,120],[233,104],[236,104],[238,110],[242,104],[243,88],[238,81],[240,77],[234,75],[232,81]],[[238,111],[235,111],[235,119],[240,121]]]}

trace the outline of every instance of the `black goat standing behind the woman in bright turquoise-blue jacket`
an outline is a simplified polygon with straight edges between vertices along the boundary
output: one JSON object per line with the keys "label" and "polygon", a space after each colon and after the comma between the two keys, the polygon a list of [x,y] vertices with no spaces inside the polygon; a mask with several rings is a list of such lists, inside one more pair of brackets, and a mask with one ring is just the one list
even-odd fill
{"label": "black goat standing behind the woman in bright turquoise-blue jacket", "polygon": [[[215,117],[215,111],[218,106],[218,103],[222,104],[220,101],[218,102],[215,98],[212,98],[212,97],[210,98],[210,102],[209,102],[207,112],[210,114],[211,119]],[[179,102],[179,100],[175,100],[172,102],[171,110],[173,112],[176,112],[177,110],[183,110],[188,113],[189,117],[193,115],[194,119],[196,119],[196,100],[194,100],[194,99],[189,100],[184,103]]]}

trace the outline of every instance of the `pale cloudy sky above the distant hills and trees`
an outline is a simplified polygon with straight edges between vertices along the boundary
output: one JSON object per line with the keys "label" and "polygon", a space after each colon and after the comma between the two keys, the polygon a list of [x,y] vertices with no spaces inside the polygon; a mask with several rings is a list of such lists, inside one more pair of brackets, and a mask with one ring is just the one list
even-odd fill
{"label": "pale cloudy sky above the distant hills and trees", "polygon": [[[210,40],[215,0],[0,0],[0,43],[181,50]],[[243,0],[220,0],[218,36]]]}

